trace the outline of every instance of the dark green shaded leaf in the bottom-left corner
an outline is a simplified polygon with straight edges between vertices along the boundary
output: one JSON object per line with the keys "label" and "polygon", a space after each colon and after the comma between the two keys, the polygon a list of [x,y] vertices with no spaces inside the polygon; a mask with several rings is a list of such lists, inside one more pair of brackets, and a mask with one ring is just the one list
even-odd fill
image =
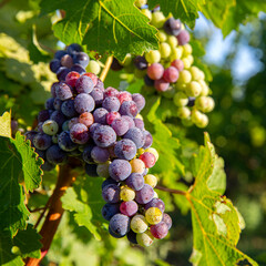
{"label": "dark green shaded leaf in the bottom-left corner", "polygon": [[0,232],[0,265],[24,265],[21,258],[41,256],[41,236],[31,224],[11,238],[9,232]]}

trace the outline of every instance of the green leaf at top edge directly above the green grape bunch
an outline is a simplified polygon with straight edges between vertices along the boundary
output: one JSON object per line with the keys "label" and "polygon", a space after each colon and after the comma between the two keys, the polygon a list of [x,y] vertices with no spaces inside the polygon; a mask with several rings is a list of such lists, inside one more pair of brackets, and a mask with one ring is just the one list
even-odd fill
{"label": "green leaf at top edge directly above the green grape bunch", "polygon": [[150,0],[149,7],[152,9],[160,4],[165,16],[173,13],[175,18],[182,20],[190,28],[195,27],[195,20],[198,18],[198,11],[202,11],[205,0]]}

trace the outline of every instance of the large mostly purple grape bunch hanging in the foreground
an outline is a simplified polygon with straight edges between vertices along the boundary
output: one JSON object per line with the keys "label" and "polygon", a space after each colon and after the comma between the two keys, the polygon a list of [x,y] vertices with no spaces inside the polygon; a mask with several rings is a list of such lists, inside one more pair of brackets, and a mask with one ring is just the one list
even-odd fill
{"label": "large mostly purple grape bunch hanging in the foreground", "polygon": [[150,246],[167,235],[172,219],[154,191],[156,176],[149,174],[158,154],[140,115],[145,99],[104,89],[95,74],[75,70],[52,84],[52,98],[39,113],[37,130],[25,133],[27,140],[44,160],[44,171],[74,156],[89,176],[105,177],[102,215],[110,222],[110,234]]}

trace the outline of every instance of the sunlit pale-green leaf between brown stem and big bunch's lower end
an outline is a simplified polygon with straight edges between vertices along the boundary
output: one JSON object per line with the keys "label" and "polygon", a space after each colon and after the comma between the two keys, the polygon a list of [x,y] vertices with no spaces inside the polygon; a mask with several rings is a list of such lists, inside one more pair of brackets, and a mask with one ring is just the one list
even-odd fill
{"label": "sunlit pale-green leaf between brown stem and big bunch's lower end", "polygon": [[85,226],[96,239],[101,239],[100,225],[103,223],[101,208],[104,202],[101,196],[102,178],[81,177],[73,187],[69,187],[61,201],[63,208],[74,212],[79,226]]}

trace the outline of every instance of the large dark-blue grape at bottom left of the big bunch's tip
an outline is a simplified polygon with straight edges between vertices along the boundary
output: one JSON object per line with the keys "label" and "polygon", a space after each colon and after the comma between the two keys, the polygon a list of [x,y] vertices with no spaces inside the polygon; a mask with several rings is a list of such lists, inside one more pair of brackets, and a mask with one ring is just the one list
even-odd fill
{"label": "large dark-blue grape at bottom left of the big bunch's tip", "polygon": [[109,227],[117,237],[125,236],[130,232],[130,217],[123,214],[115,214],[110,219]]}

